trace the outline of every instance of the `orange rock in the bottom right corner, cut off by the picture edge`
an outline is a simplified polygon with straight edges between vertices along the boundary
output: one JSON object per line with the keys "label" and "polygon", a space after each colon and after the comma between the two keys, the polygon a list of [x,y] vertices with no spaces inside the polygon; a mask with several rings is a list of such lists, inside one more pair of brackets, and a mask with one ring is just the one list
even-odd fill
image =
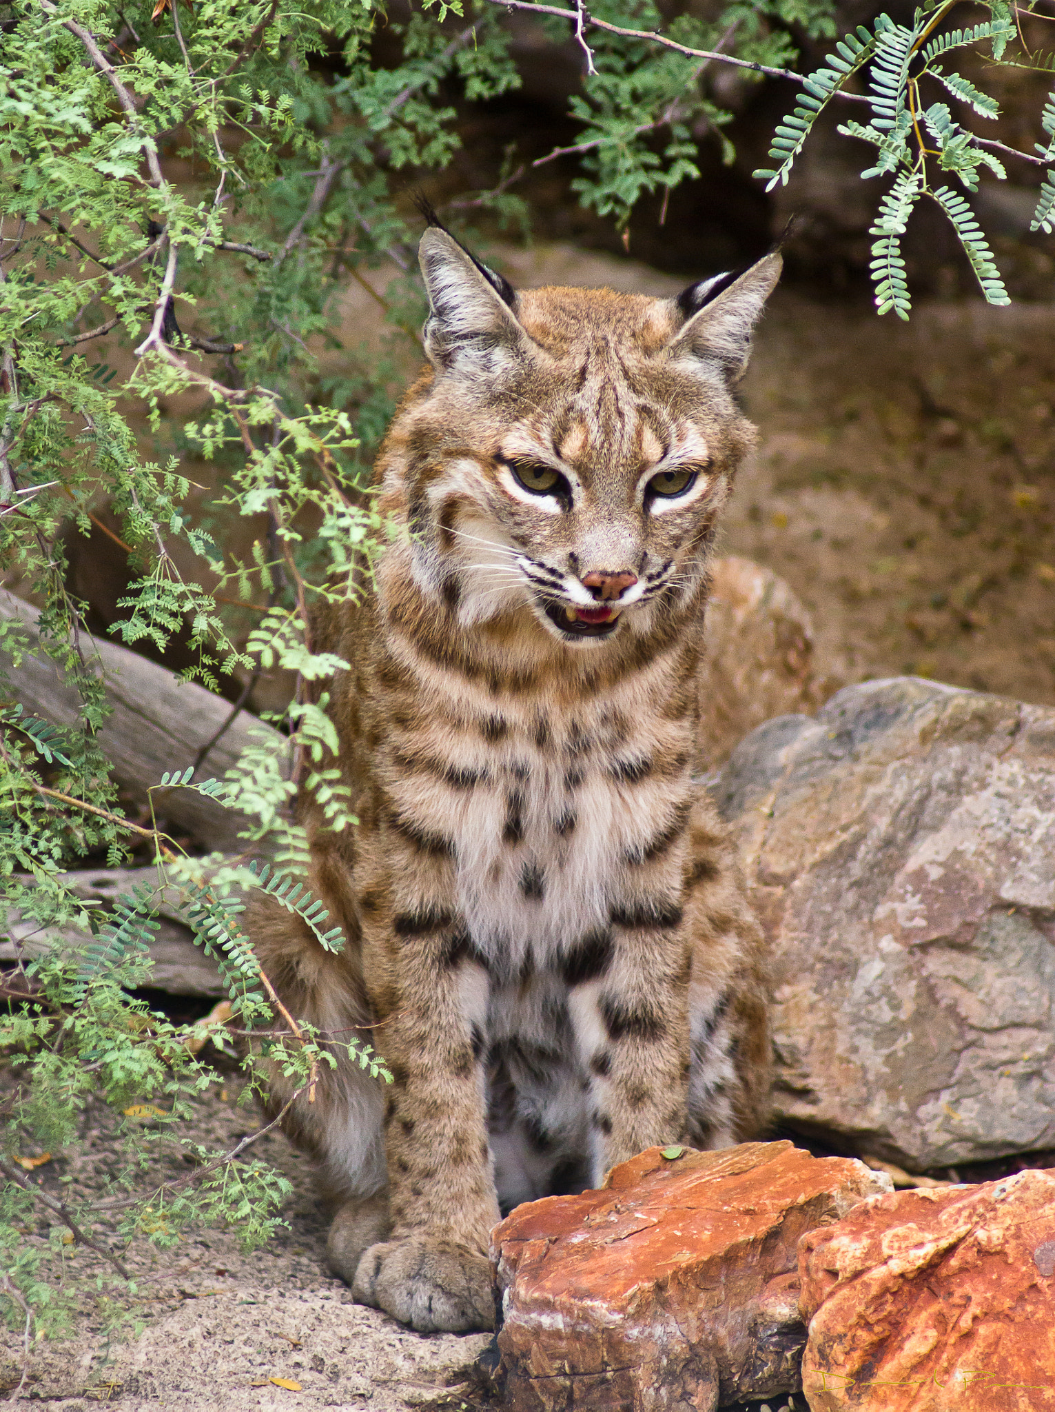
{"label": "orange rock in the bottom right corner, cut off by the picture edge", "polygon": [[812,1412],[1055,1409],[1055,1172],[874,1197],[798,1261]]}

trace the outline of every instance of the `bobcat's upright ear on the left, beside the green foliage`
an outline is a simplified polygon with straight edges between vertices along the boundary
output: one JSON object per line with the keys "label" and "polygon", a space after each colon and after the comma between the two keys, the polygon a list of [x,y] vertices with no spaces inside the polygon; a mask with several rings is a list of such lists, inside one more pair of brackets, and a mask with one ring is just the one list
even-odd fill
{"label": "bobcat's upright ear on the left, beside the green foliage", "polygon": [[425,352],[436,369],[494,376],[519,363],[529,339],[509,281],[437,226],[422,236],[417,258],[430,306]]}

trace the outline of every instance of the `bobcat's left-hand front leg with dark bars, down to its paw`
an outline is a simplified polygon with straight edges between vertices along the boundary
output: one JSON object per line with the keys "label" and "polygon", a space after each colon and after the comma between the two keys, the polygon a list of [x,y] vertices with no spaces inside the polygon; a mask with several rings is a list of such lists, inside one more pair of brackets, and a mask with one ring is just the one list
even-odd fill
{"label": "bobcat's left-hand front leg with dark bars, down to its paw", "polygon": [[487,1138],[488,977],[457,918],[423,898],[370,928],[367,976],[392,1070],[388,1240],[360,1258],[353,1293],[420,1333],[491,1329],[488,1233],[498,1221]]}

